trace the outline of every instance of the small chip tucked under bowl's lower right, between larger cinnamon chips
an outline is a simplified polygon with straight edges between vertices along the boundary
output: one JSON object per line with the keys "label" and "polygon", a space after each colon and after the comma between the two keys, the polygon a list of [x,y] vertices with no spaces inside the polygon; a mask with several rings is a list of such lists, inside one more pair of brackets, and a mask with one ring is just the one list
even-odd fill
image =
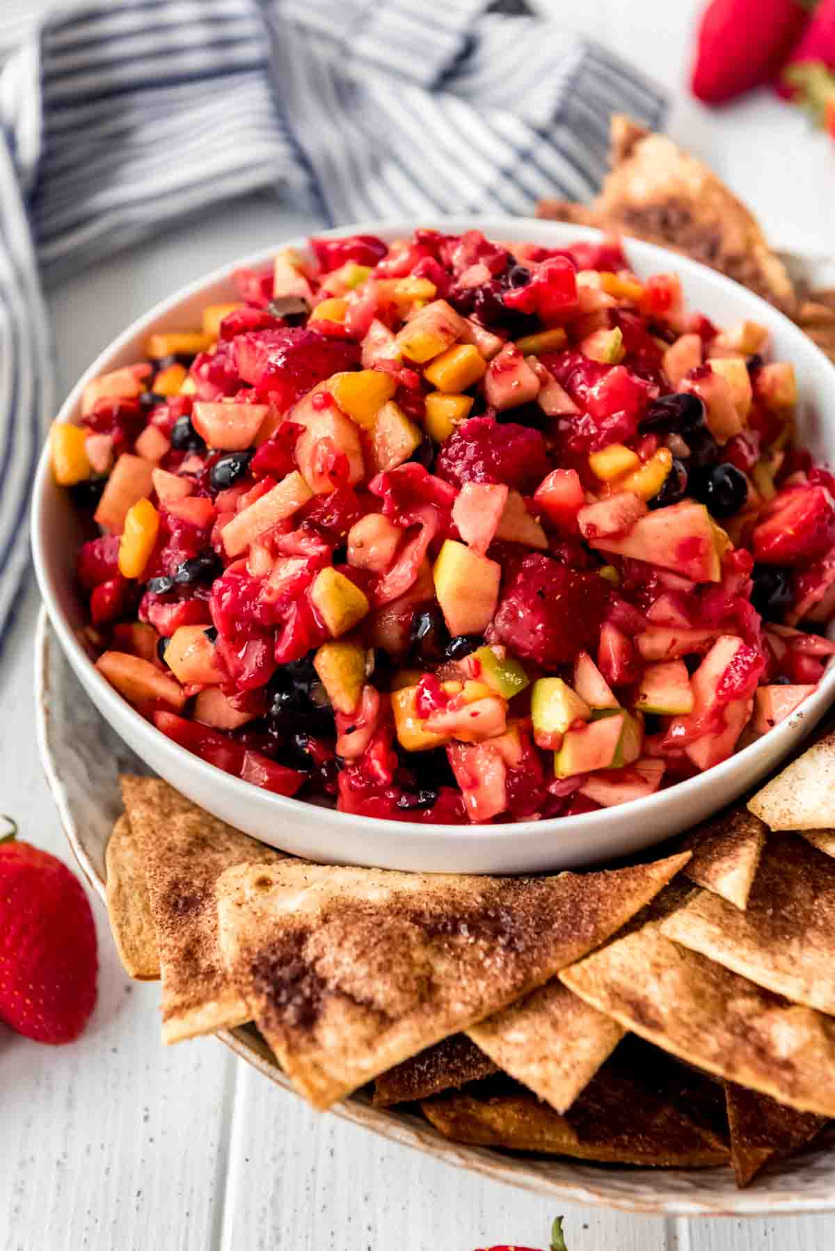
{"label": "small chip tucked under bowl's lower right, between larger cinnamon chips", "polygon": [[731,804],[691,829],[681,847],[692,852],[685,876],[745,909],[767,834],[744,803]]}

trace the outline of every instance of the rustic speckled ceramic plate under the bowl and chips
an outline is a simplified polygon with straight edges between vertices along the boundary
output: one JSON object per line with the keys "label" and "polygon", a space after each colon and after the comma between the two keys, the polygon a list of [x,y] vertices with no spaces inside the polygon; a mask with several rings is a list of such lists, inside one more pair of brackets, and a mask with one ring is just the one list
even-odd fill
{"label": "rustic speckled ceramic plate under the bowl and chips", "polygon": [[[90,886],[104,898],[104,848],[121,811],[119,773],[148,771],[81,689],[43,609],[35,642],[35,706],[40,754],[66,837]],[[224,1030],[218,1037],[264,1077],[292,1088],[253,1027]],[[334,1113],[459,1168],[577,1203],[682,1216],[835,1208],[835,1130],[812,1150],[737,1191],[730,1168],[616,1168],[457,1146],[422,1118],[376,1108],[364,1096],[339,1103]]]}

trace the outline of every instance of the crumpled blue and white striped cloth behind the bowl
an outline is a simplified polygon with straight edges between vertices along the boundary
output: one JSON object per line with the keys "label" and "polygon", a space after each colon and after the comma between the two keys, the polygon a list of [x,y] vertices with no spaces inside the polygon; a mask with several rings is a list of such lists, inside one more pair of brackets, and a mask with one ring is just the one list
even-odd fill
{"label": "crumpled blue and white striped cloth behind the bowl", "polygon": [[0,644],[53,414],[41,281],[259,189],[322,224],[585,199],[610,115],[656,126],[665,105],[513,0],[99,0],[34,26],[29,0],[0,8]]}

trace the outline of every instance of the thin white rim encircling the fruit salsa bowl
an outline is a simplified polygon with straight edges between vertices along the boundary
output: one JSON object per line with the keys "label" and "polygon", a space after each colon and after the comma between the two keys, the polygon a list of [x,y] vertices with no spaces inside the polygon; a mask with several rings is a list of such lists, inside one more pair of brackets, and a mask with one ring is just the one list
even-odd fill
{"label": "thin white rim encircling the fruit salsa bowl", "polygon": [[[344,226],[336,226],[330,230],[318,231],[314,238],[339,239],[353,234],[377,234],[384,240],[391,241],[394,238],[409,235],[418,228],[439,229],[452,233],[477,229],[482,230],[488,238],[496,238],[499,241],[525,239],[526,241],[541,241],[545,245],[551,244],[556,246],[566,245],[570,241],[597,241],[606,238],[605,231],[597,230],[592,226],[576,226],[571,223],[548,221],[546,219],[537,218],[484,218],[476,214],[448,218],[432,216],[429,220],[414,218],[398,221],[378,220],[352,223]],[[118,357],[119,353],[121,353],[139,335],[148,334],[153,327],[161,322],[166,315],[175,314],[182,304],[185,304],[188,300],[198,296],[204,289],[228,281],[232,278],[233,271],[237,269],[269,264],[279,248],[295,248],[309,254],[308,239],[309,235],[297,235],[292,239],[278,240],[270,248],[260,248],[238,258],[234,261],[217,266],[209,274],[194,279],[192,283],[178,288],[178,290],[175,290],[172,295],[159,300],[155,305],[153,305],[153,308],[138,317],[119,335],[111,339],[110,343],[99,353],[95,360],[81,374],[66,395],[64,403],[60,405],[55,420],[59,423],[74,422],[85,384],[91,378],[106,372],[113,358]],[[781,333],[789,337],[792,360],[795,359],[795,353],[800,357],[807,357],[812,372],[832,372],[835,383],[835,365],[829,360],[829,358],[804,334],[797,325],[795,325],[794,322],[790,320],[790,318],[774,305],[769,304],[766,300],[761,299],[761,296],[755,295],[752,291],[749,291],[747,288],[741,286],[739,283],[725,276],[724,274],[720,274],[717,270],[714,270],[707,265],[702,265],[701,263],[692,260],[690,256],[680,255],[667,248],[661,248],[656,244],[631,238],[625,239],[625,246],[627,253],[635,253],[638,259],[652,265],[655,271],[674,269],[682,279],[685,295],[687,294],[687,276],[694,276],[697,280],[707,281],[709,284],[715,285],[720,293],[726,293],[729,296],[734,296],[737,300],[744,298],[751,308],[752,318],[756,318],[759,313],[760,319],[765,319],[766,324],[776,320]],[[73,668],[75,668],[76,672],[83,671],[85,673],[85,684],[95,686],[98,698],[108,709],[108,719],[111,722],[115,721],[118,724],[120,718],[126,717],[136,738],[143,743],[151,741],[150,749],[153,751],[153,744],[155,744],[156,749],[168,757],[172,766],[179,764],[183,768],[192,769],[194,776],[202,778],[207,784],[212,784],[214,782],[215,786],[223,786],[228,789],[232,798],[237,797],[245,802],[247,797],[252,794],[250,783],[244,782],[233,774],[223,773],[223,771],[218,769],[215,766],[209,764],[199,756],[195,756],[187,748],[180,747],[173,739],[168,738],[168,736],[163,734],[161,731],[156,729],[155,726],[145,721],[145,718],[141,717],[98,672],[88,653],[79,643],[69,622],[64,617],[51,584],[51,574],[43,530],[43,522],[48,504],[46,494],[50,485],[49,475],[49,440],[46,439],[38,462],[30,508],[33,562],[48,615],[58,634],[61,648],[73,664]],[[814,724],[832,699],[835,699],[835,664],[829,667],[829,669],[824,673],[817,689],[800,706],[806,722],[809,724]],[[729,759],[712,766],[712,768],[706,769],[704,773],[699,773],[692,778],[677,782],[674,787],[657,791],[653,794],[643,796],[637,799],[631,799],[627,803],[618,804],[616,807],[602,808],[572,817],[548,817],[541,821],[497,822],[491,824],[411,822],[407,824],[409,824],[416,833],[419,831],[421,837],[427,842],[448,838],[453,833],[459,839],[477,839],[479,842],[488,843],[499,842],[507,838],[511,833],[515,838],[525,838],[526,834],[541,836],[546,829],[558,834],[560,831],[563,833],[568,832],[568,823],[572,833],[593,837],[596,832],[602,832],[610,826],[618,824],[625,816],[640,819],[643,814],[646,814],[647,819],[650,819],[656,808],[660,809],[666,807],[670,802],[670,796],[674,792],[676,798],[686,806],[689,796],[696,793],[701,787],[704,787],[707,779],[720,783],[724,779],[730,778],[737,769],[745,771],[746,764],[754,764],[760,754],[760,748],[764,742],[767,742],[775,748],[775,751],[782,744],[785,754],[790,746],[789,741],[794,737],[794,728],[795,723],[792,718],[786,718],[779,726],[775,726],[771,731],[769,731],[767,736],[762,736],[762,738],[750,743],[741,751],[735,752],[729,757]],[[260,802],[268,808],[272,808],[277,818],[292,818],[293,814],[298,813],[302,806],[304,808],[310,807],[308,801],[295,799],[292,796],[279,796],[267,791],[262,791]],[[372,834],[379,834],[381,838],[392,836],[396,837],[398,833],[402,834],[403,832],[403,822],[391,821],[389,818],[372,818],[356,813],[339,812],[337,809],[333,809],[333,817],[338,819],[341,824],[347,823],[348,828],[357,832],[364,831],[366,833],[371,832]]]}

